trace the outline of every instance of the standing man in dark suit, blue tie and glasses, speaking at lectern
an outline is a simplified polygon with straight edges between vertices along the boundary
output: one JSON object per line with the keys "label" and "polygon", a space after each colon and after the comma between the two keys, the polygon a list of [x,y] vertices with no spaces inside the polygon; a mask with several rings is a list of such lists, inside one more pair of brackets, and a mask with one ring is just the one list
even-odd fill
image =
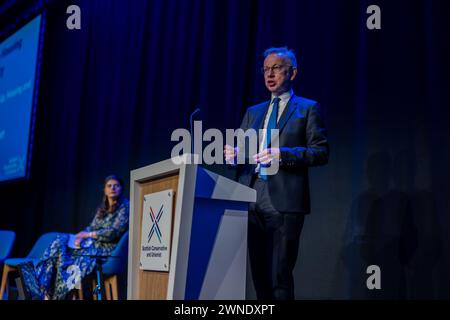
{"label": "standing man in dark suit, blue tie and glasses, speaking at lectern", "polygon": [[[293,269],[304,216],[310,212],[308,168],[328,162],[328,140],[317,102],[295,96],[294,53],[286,47],[264,52],[265,85],[270,101],[248,108],[241,129],[265,129],[253,163],[238,165],[238,180],[257,191],[249,207],[248,246],[258,299],[294,299]],[[270,129],[278,129],[278,144]],[[277,147],[274,147],[274,146]],[[225,146],[235,162],[238,148]],[[276,174],[267,167],[278,164]]]}

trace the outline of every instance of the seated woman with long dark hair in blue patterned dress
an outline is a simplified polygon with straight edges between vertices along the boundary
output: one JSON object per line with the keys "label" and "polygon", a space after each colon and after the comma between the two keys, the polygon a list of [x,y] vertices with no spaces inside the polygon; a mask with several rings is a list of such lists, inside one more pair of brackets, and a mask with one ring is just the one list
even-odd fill
{"label": "seated woman with long dark hair in blue patterned dress", "polygon": [[[128,230],[129,202],[122,195],[122,180],[115,175],[104,182],[103,201],[90,225],[75,236],[58,235],[36,265],[40,297],[64,299],[85,276],[95,268],[93,256],[109,256],[120,237]],[[24,280],[25,287],[28,280]]]}

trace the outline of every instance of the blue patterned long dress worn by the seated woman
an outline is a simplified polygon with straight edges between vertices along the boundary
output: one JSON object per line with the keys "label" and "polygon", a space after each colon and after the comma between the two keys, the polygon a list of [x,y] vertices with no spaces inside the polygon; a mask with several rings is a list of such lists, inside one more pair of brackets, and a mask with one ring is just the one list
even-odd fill
{"label": "blue patterned long dress worn by the seated woman", "polygon": [[107,213],[102,219],[97,215],[94,217],[84,231],[95,231],[97,238],[85,240],[82,248],[69,248],[70,236],[58,235],[36,266],[37,280],[45,293],[53,300],[64,299],[95,268],[95,258],[84,255],[110,255],[128,230],[128,217],[129,201],[124,198],[114,212]]}

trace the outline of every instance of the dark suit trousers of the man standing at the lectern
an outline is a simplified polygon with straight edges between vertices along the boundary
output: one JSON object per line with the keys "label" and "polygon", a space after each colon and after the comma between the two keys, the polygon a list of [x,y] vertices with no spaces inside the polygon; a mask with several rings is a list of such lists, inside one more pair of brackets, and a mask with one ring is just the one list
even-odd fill
{"label": "dark suit trousers of the man standing at the lectern", "polygon": [[304,214],[281,213],[270,200],[267,182],[254,178],[256,203],[249,206],[248,249],[258,300],[294,299],[293,269]]}

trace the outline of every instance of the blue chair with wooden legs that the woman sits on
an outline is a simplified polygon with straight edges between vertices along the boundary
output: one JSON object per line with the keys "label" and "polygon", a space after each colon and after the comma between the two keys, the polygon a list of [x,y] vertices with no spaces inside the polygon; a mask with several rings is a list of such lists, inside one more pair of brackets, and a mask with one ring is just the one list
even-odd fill
{"label": "blue chair with wooden legs that the woman sits on", "polygon": [[[118,275],[122,274],[128,261],[128,231],[126,231],[119,240],[111,256],[106,259],[102,266],[106,300],[118,300]],[[96,287],[96,280],[93,280],[93,287]],[[95,299],[95,296],[94,296]]]}

